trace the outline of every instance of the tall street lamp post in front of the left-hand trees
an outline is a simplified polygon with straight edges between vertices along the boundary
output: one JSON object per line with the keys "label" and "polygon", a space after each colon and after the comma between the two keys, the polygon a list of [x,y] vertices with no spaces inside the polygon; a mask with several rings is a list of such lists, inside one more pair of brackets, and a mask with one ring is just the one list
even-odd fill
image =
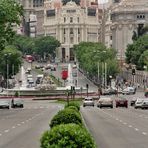
{"label": "tall street lamp post in front of the left-hand trees", "polygon": [[6,58],[6,88],[7,88],[7,96],[8,96],[8,83],[9,83],[9,63],[8,59],[11,56],[11,53],[6,53],[4,54]]}

